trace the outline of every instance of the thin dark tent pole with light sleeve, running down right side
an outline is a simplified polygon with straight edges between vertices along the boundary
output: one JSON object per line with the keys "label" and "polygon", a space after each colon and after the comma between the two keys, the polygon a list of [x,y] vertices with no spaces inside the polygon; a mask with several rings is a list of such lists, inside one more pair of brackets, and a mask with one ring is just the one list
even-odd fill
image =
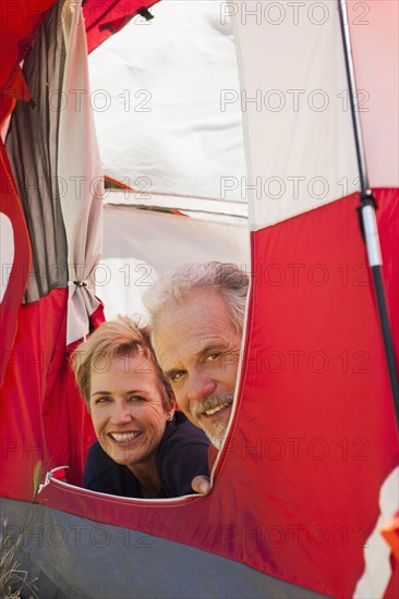
{"label": "thin dark tent pole with light sleeve, running down right side", "polygon": [[347,3],[344,0],[337,0],[338,2],[338,12],[339,20],[341,24],[341,34],[343,42],[343,53],[344,53],[344,63],[347,69],[348,77],[348,91],[351,106],[352,114],[352,124],[354,133],[354,142],[356,147],[356,158],[358,167],[360,174],[360,201],[361,205],[358,207],[359,212],[361,213],[361,227],[364,242],[367,248],[368,266],[372,271],[374,291],[377,301],[379,323],[382,328],[382,334],[384,340],[385,356],[389,372],[390,388],[392,391],[397,426],[399,428],[399,384],[398,384],[398,372],[396,368],[395,359],[395,350],[392,343],[392,335],[389,325],[389,316],[387,309],[387,301],[385,296],[384,283],[383,283],[383,272],[382,272],[382,255],[379,248],[379,237],[377,230],[377,222],[375,218],[376,201],[372,191],[368,187],[368,179],[366,164],[364,159],[364,146],[362,139],[362,130],[359,118],[358,110],[358,98],[355,90],[354,73],[353,73],[353,62],[352,62],[352,51],[351,51],[351,41],[349,35],[348,26],[348,13],[347,13]]}

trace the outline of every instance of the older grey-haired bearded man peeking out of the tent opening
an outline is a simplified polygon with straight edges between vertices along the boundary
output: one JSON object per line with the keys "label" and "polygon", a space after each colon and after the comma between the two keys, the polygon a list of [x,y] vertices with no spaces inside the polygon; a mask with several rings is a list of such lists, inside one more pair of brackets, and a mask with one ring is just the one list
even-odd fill
{"label": "older grey-haired bearded man peeking out of the tent opening", "polygon": [[[186,417],[216,449],[226,437],[234,395],[249,278],[235,265],[185,264],[145,298],[153,345]],[[208,479],[193,489],[206,493]]]}

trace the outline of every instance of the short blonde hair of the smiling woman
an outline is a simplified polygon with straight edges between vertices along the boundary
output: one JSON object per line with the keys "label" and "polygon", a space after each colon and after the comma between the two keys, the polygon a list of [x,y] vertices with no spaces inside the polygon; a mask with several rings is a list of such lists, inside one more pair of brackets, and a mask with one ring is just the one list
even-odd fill
{"label": "short blonde hair of the smiling woman", "polygon": [[81,343],[71,356],[72,370],[89,411],[90,379],[97,360],[110,360],[113,357],[143,355],[155,366],[162,394],[165,411],[172,407],[174,402],[170,383],[160,369],[149,339],[149,327],[141,326],[128,316],[119,316],[117,320],[104,322],[90,337]]}

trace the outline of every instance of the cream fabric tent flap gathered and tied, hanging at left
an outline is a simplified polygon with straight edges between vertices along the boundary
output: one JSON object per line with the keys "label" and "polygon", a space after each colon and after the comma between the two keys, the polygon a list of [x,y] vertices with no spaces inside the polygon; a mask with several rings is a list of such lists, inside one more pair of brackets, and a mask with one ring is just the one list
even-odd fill
{"label": "cream fabric tent flap gathered and tied, hanging at left", "polygon": [[[75,90],[88,89],[86,32],[81,3],[68,0],[62,28],[66,48],[58,134],[58,172],[60,181],[70,182],[60,203],[69,246],[69,304],[66,344],[88,333],[88,316],[98,301],[87,286],[101,255],[104,182],[93,113],[87,94],[76,110]],[[77,183],[77,186],[75,185]],[[78,281],[82,284],[76,284]]]}

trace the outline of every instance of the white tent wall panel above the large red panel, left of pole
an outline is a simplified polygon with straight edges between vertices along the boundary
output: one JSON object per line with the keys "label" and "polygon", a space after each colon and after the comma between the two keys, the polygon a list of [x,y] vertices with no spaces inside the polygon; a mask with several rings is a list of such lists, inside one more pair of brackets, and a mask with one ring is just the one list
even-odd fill
{"label": "white tent wall panel above the large red panel, left of pole", "polygon": [[337,5],[295,4],[231,3],[253,230],[359,188]]}

